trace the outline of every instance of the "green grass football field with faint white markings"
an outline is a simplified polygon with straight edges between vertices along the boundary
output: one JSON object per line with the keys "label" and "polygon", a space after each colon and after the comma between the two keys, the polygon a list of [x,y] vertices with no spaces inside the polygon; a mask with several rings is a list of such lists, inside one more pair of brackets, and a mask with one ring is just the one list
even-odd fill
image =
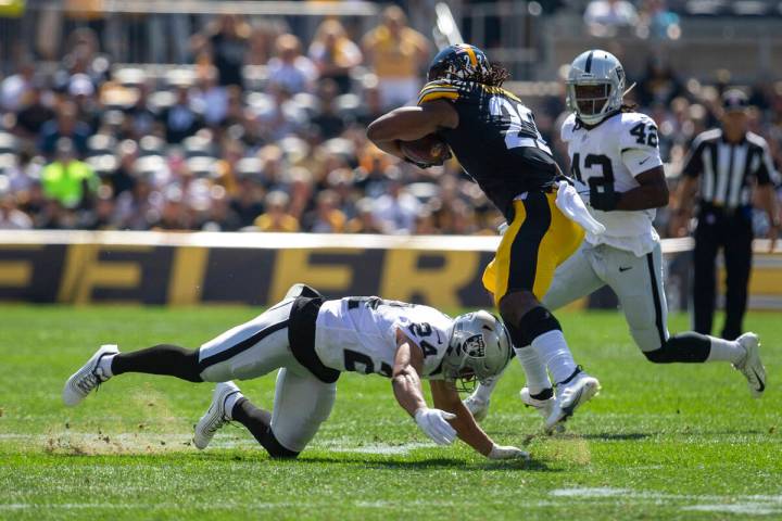
{"label": "green grass football field with faint white markings", "polygon": [[[128,374],[66,409],[65,379],[100,343],[197,346],[250,308],[0,307],[2,519],[782,518],[782,321],[751,315],[770,386],[761,401],[727,365],[654,366],[618,314],[564,313],[602,393],[568,433],[534,436],[518,364],[483,425],[532,454],[488,461],[427,442],[380,377],[340,379],[331,418],[297,461],[270,461],[243,429],[190,445],[210,384]],[[671,329],[683,330],[683,316]],[[244,382],[270,407],[274,376]],[[531,440],[529,440],[531,437]]]}

